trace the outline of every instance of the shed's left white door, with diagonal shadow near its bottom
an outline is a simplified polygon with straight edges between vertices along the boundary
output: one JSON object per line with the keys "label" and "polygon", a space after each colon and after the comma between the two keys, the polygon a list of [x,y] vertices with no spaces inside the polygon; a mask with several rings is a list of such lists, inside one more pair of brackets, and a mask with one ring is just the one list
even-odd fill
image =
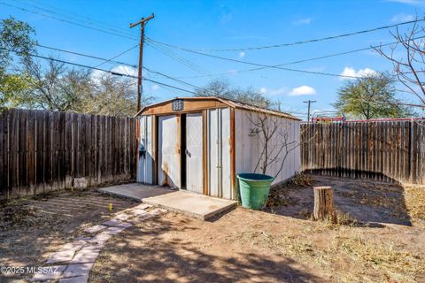
{"label": "shed's left white door, with diagonal shadow near its bottom", "polygon": [[158,183],[182,187],[179,118],[175,115],[158,118]]}

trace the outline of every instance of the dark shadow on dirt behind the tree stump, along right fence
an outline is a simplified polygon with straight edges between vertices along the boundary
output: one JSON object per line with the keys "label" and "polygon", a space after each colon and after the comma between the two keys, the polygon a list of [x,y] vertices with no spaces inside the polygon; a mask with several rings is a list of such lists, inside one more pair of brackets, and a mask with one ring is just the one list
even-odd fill
{"label": "dark shadow on dirt behind the tree stump, along right fence", "polygon": [[[385,223],[412,226],[406,209],[404,187],[397,182],[311,176],[313,186],[332,187],[336,210],[349,214],[362,226],[380,227]],[[284,202],[265,210],[308,219],[313,213],[313,186],[279,187],[278,194]]]}

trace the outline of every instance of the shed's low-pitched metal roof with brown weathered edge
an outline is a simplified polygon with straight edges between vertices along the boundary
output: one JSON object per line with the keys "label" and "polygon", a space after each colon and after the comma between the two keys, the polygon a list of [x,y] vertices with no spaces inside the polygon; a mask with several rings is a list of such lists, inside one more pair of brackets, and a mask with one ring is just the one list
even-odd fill
{"label": "shed's low-pitched metal roof with brown weathered edge", "polygon": [[137,114],[135,114],[135,116],[142,114],[143,111],[145,111],[146,109],[149,109],[149,108],[152,108],[152,107],[155,107],[155,106],[159,106],[159,105],[162,105],[162,104],[165,104],[165,103],[170,103],[170,102],[174,101],[175,99],[182,99],[183,101],[184,100],[216,100],[216,101],[220,101],[221,103],[227,104],[229,107],[233,107],[233,108],[236,108],[236,109],[243,109],[243,110],[246,110],[246,111],[260,112],[260,113],[279,116],[279,117],[287,118],[287,119],[301,120],[301,119],[298,119],[297,117],[295,117],[295,116],[293,116],[289,113],[285,113],[285,112],[282,112],[282,111],[274,111],[274,110],[264,109],[264,108],[260,108],[260,107],[255,106],[255,105],[251,105],[249,103],[241,103],[239,101],[229,99],[229,98],[225,98],[225,97],[220,97],[220,96],[174,97],[173,99],[168,99],[168,100],[162,101],[160,103],[153,103],[151,105],[145,106],[145,107],[143,107],[143,109],[141,111],[138,111]]}

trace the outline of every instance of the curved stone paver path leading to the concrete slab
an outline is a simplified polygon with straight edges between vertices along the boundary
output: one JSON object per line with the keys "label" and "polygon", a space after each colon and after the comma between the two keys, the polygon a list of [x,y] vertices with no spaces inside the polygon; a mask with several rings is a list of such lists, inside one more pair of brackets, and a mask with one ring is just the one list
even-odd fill
{"label": "curved stone paver path leading to the concrete slab", "polygon": [[59,283],[85,283],[89,279],[89,272],[112,236],[132,226],[132,223],[141,222],[158,216],[166,210],[155,209],[146,211],[149,204],[140,204],[128,210],[122,210],[116,216],[101,225],[91,226],[84,230],[89,237],[82,236],[66,244],[62,249],[50,255],[42,272],[35,273],[33,282],[58,280]]}

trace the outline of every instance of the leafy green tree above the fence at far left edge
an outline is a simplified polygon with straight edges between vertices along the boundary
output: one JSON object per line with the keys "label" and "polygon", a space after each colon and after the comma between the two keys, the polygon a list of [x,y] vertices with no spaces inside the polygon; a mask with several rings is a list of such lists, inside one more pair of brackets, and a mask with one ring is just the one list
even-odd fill
{"label": "leafy green tree above the fence at far left edge", "polygon": [[34,34],[33,27],[12,17],[0,21],[0,109],[15,106],[15,97],[28,88],[27,77],[19,72],[18,65],[31,62]]}

